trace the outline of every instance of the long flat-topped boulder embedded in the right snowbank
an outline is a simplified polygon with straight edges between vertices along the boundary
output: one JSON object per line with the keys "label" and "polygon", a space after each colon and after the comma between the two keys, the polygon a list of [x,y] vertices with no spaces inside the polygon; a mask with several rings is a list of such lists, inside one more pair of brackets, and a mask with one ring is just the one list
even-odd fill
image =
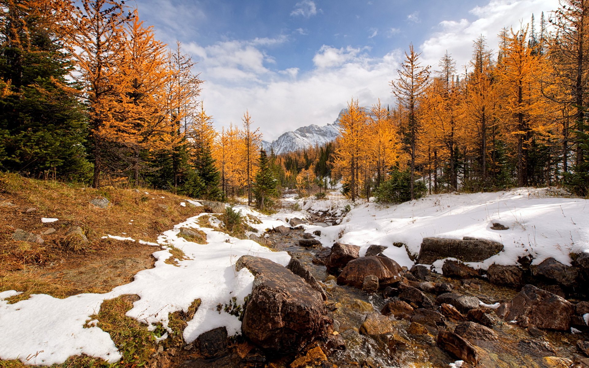
{"label": "long flat-topped boulder embedded in the right snowbank", "polygon": [[481,262],[503,250],[497,241],[476,238],[446,239],[423,238],[418,263],[432,264],[436,260],[452,257],[463,262]]}

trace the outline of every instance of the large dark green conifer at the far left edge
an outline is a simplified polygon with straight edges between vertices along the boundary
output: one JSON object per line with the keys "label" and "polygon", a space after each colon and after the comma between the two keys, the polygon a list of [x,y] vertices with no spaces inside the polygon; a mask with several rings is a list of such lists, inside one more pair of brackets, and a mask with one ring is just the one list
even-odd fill
{"label": "large dark green conifer at the far left edge", "polygon": [[85,180],[86,123],[77,91],[67,81],[69,55],[58,38],[64,4],[1,4],[0,169]]}

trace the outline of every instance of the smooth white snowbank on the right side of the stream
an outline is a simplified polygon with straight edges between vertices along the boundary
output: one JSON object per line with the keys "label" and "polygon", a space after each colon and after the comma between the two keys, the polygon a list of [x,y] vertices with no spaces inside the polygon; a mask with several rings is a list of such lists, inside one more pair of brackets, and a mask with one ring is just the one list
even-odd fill
{"label": "smooth white snowbank on the right side of the stream", "polygon": [[[479,263],[475,268],[487,269],[493,263],[516,264],[518,257],[532,256],[538,264],[548,257],[570,265],[571,252],[589,252],[589,201],[582,198],[555,196],[547,188],[517,188],[496,193],[428,195],[398,205],[382,205],[356,201],[340,224],[321,228],[307,226],[312,233],[321,230],[323,246],[335,241],[361,247],[360,255],[370,244],[388,246],[383,253],[401,266],[411,267],[411,253],[419,253],[424,237],[477,237],[504,244],[504,251]],[[336,199],[299,200],[310,211],[341,212],[349,201]],[[509,227],[492,230],[493,223]],[[341,237],[340,237],[341,236]],[[443,260],[434,266],[441,268]]]}

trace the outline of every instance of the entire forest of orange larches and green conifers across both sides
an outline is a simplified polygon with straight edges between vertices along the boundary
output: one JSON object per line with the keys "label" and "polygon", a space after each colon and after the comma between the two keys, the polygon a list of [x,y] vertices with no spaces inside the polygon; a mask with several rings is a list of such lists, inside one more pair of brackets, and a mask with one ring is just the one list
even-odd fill
{"label": "entire forest of orange larches and green conifers across both sides", "polygon": [[421,65],[410,46],[397,105],[352,99],[335,142],[278,156],[247,111],[216,131],[190,56],[123,1],[0,6],[2,171],[260,207],[280,186],[308,195],[339,178],[353,200],[555,184],[587,195],[589,0],[503,29],[496,52],[479,37],[464,71],[449,53]]}

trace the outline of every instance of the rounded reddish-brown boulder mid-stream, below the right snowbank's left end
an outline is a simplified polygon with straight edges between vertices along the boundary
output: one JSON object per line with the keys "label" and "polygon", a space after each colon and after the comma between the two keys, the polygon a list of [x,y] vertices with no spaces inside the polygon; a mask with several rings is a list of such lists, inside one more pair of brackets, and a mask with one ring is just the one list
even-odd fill
{"label": "rounded reddish-brown boulder mid-stream, below the right snowbank's left end", "polygon": [[338,284],[349,284],[362,287],[368,275],[378,277],[380,286],[387,286],[398,281],[402,268],[391,258],[382,256],[362,257],[349,261],[337,277]]}

